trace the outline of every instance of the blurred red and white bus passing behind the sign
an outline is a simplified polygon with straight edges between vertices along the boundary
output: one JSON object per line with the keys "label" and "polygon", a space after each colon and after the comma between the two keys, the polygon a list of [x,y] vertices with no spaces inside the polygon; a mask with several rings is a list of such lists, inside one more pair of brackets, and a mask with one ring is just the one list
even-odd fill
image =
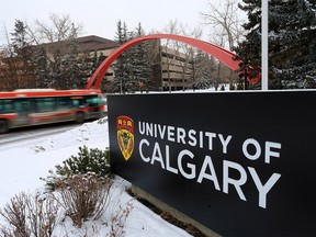
{"label": "blurred red and white bus passing behind the sign", "polygon": [[100,119],[105,114],[100,90],[23,89],[0,92],[0,134],[10,128]]}

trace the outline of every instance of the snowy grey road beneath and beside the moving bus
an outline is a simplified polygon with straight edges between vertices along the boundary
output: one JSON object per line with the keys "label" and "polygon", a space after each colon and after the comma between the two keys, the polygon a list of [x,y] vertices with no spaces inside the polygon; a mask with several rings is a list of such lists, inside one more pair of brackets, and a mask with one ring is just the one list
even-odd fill
{"label": "snowy grey road beneath and beside the moving bus", "polygon": [[23,145],[36,145],[48,136],[64,133],[65,131],[81,126],[76,123],[59,123],[34,127],[21,127],[0,134],[0,150],[20,147]]}

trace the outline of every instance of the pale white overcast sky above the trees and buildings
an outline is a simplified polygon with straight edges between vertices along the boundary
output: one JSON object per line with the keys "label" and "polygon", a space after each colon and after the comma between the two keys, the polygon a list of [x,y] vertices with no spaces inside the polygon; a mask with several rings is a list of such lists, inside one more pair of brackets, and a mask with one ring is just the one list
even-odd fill
{"label": "pale white overcast sky above the trees and buildings", "polygon": [[194,29],[201,25],[200,12],[207,10],[207,0],[0,0],[0,43],[5,41],[4,27],[13,32],[15,19],[32,25],[34,20],[49,23],[49,13],[69,14],[72,22],[82,24],[83,35],[114,38],[116,23],[125,21],[128,31],[138,22],[146,33],[162,32],[170,20]]}

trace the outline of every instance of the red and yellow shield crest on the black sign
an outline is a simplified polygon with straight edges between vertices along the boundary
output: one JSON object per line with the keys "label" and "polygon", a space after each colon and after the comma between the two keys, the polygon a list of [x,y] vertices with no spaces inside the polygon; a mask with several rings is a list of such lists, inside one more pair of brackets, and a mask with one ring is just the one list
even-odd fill
{"label": "red and yellow shield crest on the black sign", "polygon": [[128,160],[134,150],[134,121],[128,116],[116,119],[117,143],[125,160]]}

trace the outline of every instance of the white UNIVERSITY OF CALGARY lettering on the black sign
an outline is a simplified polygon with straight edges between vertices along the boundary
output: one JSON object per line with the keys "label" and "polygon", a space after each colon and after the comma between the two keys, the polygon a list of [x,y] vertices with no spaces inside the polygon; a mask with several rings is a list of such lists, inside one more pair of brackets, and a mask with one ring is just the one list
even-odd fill
{"label": "white UNIVERSITY OF CALGARY lettering on the black sign", "polygon": [[[245,192],[242,191],[242,185],[249,180],[253,181],[256,189],[259,193],[258,205],[266,208],[267,206],[267,194],[276,183],[280,173],[272,173],[266,183],[262,183],[259,174],[256,169],[252,167],[247,167],[246,169],[236,161],[223,159],[221,170],[223,172],[223,182],[219,184],[219,178],[216,173],[218,170],[215,170],[213,159],[211,157],[211,151],[213,151],[213,144],[215,139],[218,138],[219,153],[225,155],[227,154],[228,145],[232,139],[232,135],[226,137],[223,134],[216,134],[213,132],[189,129],[185,131],[183,127],[174,127],[170,125],[160,125],[153,124],[148,122],[138,122],[138,134],[144,138],[140,139],[138,145],[139,156],[144,162],[158,166],[159,168],[172,172],[174,174],[182,176],[182,178],[188,180],[194,180],[198,183],[211,181],[211,185],[217,191],[228,193],[228,185],[232,184],[235,187],[239,199],[247,201]],[[151,138],[151,139],[150,139]],[[149,140],[156,140],[150,143]],[[163,140],[167,140],[166,145]],[[204,143],[205,142],[205,143]],[[168,145],[167,145],[168,144]],[[171,166],[170,160],[170,146],[176,145],[188,145],[188,148],[182,148],[179,150],[179,154],[176,154],[174,167]],[[255,154],[248,151],[248,147],[255,146]],[[201,151],[194,154],[190,147],[199,147]],[[280,143],[266,142],[266,157],[264,162],[270,163],[271,157],[279,157],[279,151],[273,151],[271,148],[280,149]],[[203,149],[207,150],[203,154]],[[202,154],[202,157],[201,157]],[[260,144],[253,139],[248,138],[242,143],[242,154],[247,159],[256,160],[261,156]],[[202,166],[199,167],[195,165],[195,160],[201,159]],[[249,177],[247,174],[247,169],[249,171]],[[237,171],[240,174],[240,178],[233,179],[229,172]]]}

